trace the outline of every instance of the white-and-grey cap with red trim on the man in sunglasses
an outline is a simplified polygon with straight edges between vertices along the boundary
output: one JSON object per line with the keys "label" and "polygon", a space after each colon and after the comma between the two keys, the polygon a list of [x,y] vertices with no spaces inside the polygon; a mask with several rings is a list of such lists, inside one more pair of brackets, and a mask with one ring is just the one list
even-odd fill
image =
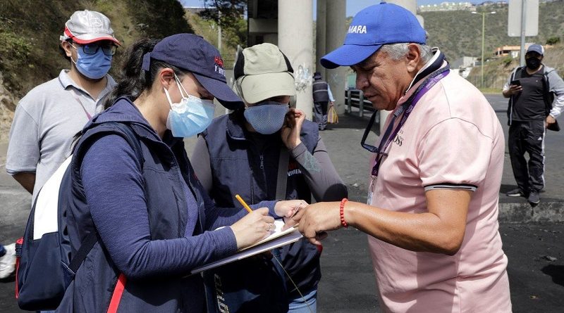
{"label": "white-and-grey cap with red trim on the man in sunglasses", "polygon": [[61,41],[73,39],[77,44],[90,44],[94,41],[110,40],[120,45],[114,37],[110,20],[106,15],[96,11],[76,11],[65,23],[65,32]]}

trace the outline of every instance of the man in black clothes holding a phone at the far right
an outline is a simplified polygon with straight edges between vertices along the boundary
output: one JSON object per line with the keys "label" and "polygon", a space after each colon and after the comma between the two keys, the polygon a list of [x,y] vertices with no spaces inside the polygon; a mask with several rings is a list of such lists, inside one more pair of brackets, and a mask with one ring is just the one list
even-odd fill
{"label": "man in black clothes holding a phone at the far right", "polygon": [[543,58],[543,46],[529,46],[526,66],[511,72],[502,92],[509,98],[509,156],[517,181],[517,188],[507,196],[525,197],[532,205],[539,204],[539,191],[544,188],[546,129],[558,125],[556,118],[564,109],[564,82],[556,70],[541,63]]}

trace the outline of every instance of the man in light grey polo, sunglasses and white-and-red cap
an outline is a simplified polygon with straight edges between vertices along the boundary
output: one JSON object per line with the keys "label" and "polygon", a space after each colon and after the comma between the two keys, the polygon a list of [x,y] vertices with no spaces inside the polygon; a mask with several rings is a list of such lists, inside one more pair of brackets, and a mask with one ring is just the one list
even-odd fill
{"label": "man in light grey polo, sunglasses and white-and-red cap", "polygon": [[116,84],[107,72],[120,43],[106,15],[76,11],[60,40],[71,69],[28,92],[16,107],[10,129],[6,172],[32,193],[32,203],[71,154],[73,136],[102,111],[102,99]]}

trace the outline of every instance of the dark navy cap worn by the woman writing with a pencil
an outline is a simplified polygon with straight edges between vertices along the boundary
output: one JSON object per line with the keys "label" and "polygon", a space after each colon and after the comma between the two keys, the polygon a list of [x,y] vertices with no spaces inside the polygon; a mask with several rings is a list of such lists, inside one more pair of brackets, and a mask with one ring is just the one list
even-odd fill
{"label": "dark navy cap worn by the woman writing with a pencil", "polygon": [[197,81],[224,107],[243,108],[243,101],[226,84],[223,59],[219,51],[196,34],[173,34],[143,56],[142,69],[148,71],[151,59],[161,60],[191,72]]}

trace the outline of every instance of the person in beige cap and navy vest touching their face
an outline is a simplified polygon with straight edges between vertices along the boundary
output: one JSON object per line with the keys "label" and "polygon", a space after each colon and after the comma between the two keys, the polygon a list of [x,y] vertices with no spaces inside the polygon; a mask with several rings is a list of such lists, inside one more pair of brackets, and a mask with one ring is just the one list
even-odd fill
{"label": "person in beige cap and navy vest touching their face", "polygon": [[[191,158],[217,205],[240,207],[234,194],[250,203],[346,197],[347,188],[317,125],[305,120],[302,110],[288,108],[296,93],[293,69],[278,46],[258,44],[243,50],[233,75],[233,89],[246,108],[216,118],[198,139]],[[286,179],[277,179],[281,168]],[[210,309],[219,309],[223,300],[229,312],[316,312],[321,249],[301,239],[273,255],[276,259],[261,255],[204,273]]]}

